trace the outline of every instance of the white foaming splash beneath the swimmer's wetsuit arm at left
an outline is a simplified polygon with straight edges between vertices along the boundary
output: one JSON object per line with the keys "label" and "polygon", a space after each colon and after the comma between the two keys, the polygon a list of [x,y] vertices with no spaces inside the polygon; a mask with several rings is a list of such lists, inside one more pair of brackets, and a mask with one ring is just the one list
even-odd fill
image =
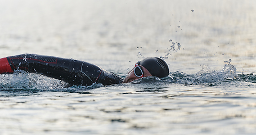
{"label": "white foaming splash beneath the swimmer's wetsuit arm at left", "polygon": [[62,80],[48,78],[40,74],[26,73],[23,70],[15,70],[14,74],[0,75],[1,96],[29,96],[37,95],[38,92],[76,92],[83,93],[89,89],[103,87],[102,84],[91,86],[69,86]]}

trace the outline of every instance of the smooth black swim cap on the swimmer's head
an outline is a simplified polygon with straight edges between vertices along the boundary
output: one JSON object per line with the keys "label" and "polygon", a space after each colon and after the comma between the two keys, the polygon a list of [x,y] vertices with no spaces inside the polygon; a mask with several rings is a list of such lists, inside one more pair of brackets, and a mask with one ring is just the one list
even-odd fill
{"label": "smooth black swim cap on the swimmer's head", "polygon": [[154,77],[163,78],[169,75],[169,68],[166,62],[158,57],[148,57],[138,62]]}

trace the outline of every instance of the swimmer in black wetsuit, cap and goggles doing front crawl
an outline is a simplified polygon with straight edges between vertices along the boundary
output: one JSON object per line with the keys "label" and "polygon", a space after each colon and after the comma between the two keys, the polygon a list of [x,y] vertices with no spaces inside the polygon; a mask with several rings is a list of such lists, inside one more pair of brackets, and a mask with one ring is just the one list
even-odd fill
{"label": "swimmer in black wetsuit, cap and goggles doing front crawl", "polygon": [[166,62],[158,57],[149,57],[137,62],[124,80],[114,73],[85,61],[35,54],[0,59],[0,74],[14,73],[15,70],[24,70],[63,80],[70,86],[91,86],[93,83],[101,83],[106,86],[129,83],[142,77],[163,78],[169,75]]}

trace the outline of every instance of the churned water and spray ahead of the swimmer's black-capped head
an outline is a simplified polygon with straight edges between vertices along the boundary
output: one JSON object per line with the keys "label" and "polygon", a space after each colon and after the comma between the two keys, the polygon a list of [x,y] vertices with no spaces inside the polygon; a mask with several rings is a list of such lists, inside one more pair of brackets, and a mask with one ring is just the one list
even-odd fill
{"label": "churned water and spray ahead of the swimmer's black-capped head", "polygon": [[[231,64],[231,60],[225,63],[224,67],[220,71],[211,70],[208,65],[201,65],[202,69],[198,71],[196,74],[185,74],[181,71],[176,71],[173,73],[169,73],[169,75],[165,78],[157,78],[157,77],[147,77],[141,78],[131,82],[130,84],[141,84],[141,83],[178,83],[178,84],[186,84],[186,85],[207,85],[213,86],[218,85],[218,83],[226,82],[226,81],[234,81],[234,80],[246,80],[249,79],[251,82],[256,83],[255,75],[239,75],[236,74],[236,68]],[[242,79],[241,79],[242,78]],[[247,80],[246,80],[247,81]]]}

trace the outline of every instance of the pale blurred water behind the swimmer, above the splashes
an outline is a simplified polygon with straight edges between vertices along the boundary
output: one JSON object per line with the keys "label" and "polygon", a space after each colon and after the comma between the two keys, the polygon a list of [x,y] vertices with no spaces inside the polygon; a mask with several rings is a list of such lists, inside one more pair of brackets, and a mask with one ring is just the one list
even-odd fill
{"label": "pale blurred water behind the swimmer, above the splashes", "polygon": [[[0,57],[37,53],[126,74],[143,57],[165,57],[191,74],[231,59],[255,69],[255,1],[0,1]],[[174,50],[170,50],[175,43]],[[177,44],[181,45],[177,50]],[[168,54],[169,53],[169,54]]]}

